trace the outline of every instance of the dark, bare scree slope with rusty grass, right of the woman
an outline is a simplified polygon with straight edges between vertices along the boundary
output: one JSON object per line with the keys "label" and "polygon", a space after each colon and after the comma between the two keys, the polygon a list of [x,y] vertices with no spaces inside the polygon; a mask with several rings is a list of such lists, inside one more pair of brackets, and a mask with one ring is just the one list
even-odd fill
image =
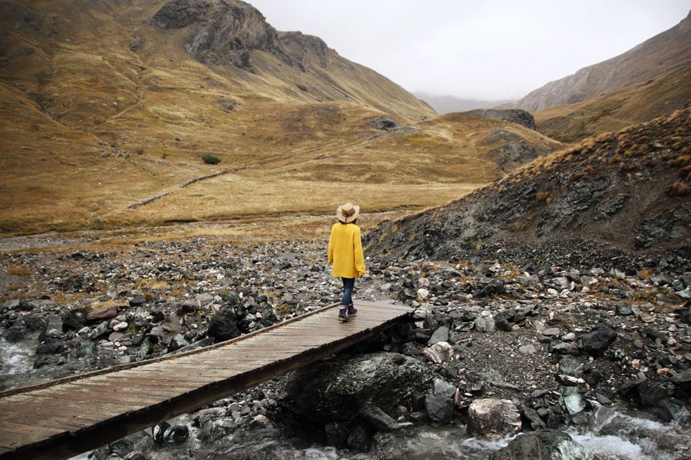
{"label": "dark, bare scree slope with rusty grass, right of the woman", "polygon": [[408,259],[513,254],[523,262],[559,252],[587,263],[589,254],[579,254],[586,248],[688,250],[690,197],[687,109],[533,161],[446,206],[381,223],[366,244]]}

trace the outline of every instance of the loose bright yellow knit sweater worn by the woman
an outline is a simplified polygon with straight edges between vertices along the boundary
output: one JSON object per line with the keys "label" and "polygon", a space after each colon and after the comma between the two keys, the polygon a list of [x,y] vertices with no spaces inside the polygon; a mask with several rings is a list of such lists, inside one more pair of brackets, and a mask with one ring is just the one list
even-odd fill
{"label": "loose bright yellow knit sweater worn by the woman", "polygon": [[360,228],[354,223],[334,223],[329,237],[329,263],[339,278],[357,278],[365,274]]}

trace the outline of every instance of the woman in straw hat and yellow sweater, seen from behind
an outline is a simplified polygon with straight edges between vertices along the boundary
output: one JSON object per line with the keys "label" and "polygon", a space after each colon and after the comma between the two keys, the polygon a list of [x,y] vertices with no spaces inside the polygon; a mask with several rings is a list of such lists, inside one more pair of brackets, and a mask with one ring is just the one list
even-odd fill
{"label": "woman in straw hat and yellow sweater, seen from behind", "polygon": [[334,264],[332,274],[343,280],[339,321],[350,321],[357,313],[352,305],[352,290],[355,279],[365,274],[360,228],[355,224],[359,213],[360,207],[350,202],[339,206],[336,210],[339,221],[332,226],[329,237],[329,263]]}

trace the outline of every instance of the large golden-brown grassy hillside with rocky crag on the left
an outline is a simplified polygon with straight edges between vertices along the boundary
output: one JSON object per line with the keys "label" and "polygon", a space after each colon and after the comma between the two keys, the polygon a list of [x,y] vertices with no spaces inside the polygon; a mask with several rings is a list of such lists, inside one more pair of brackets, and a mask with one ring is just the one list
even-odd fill
{"label": "large golden-brown grassy hillside with rocky crag on the left", "polygon": [[241,1],[0,3],[0,234],[426,208],[559,147]]}

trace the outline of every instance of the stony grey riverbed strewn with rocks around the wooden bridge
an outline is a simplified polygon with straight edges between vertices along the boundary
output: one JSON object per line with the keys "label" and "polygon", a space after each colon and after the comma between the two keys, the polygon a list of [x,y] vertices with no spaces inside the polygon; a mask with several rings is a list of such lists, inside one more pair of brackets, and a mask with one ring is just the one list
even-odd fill
{"label": "stony grey riverbed strewn with rocks around the wooden bridge", "polygon": [[[0,388],[203,346],[337,302],[341,283],[330,276],[325,243],[235,246],[197,237],[108,250],[12,250],[6,241]],[[332,361],[91,455],[486,458],[506,445],[491,444],[502,436],[597,427],[640,455],[594,452],[600,459],[688,458],[691,261],[602,256],[541,263],[526,252],[444,262],[366,252],[356,306],[357,299],[404,303],[410,321]],[[227,329],[218,317],[229,312]],[[361,371],[372,362],[388,370],[386,378],[366,381]],[[343,407],[342,388],[291,390],[304,388],[301,379],[314,383],[314,370],[334,380],[346,375],[345,393],[358,407]],[[393,385],[401,379],[408,387]],[[316,410],[305,403],[310,397],[331,402]],[[495,406],[486,412],[506,409],[501,421],[478,415],[487,403]],[[615,408],[669,429],[636,428]],[[450,444],[464,439],[484,447]],[[509,458],[500,452],[495,458]]]}

